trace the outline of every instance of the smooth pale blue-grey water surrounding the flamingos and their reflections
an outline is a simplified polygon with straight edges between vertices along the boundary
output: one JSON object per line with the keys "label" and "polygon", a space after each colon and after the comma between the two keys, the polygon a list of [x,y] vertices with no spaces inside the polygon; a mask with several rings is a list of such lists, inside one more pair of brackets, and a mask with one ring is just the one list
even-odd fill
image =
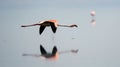
{"label": "smooth pale blue-grey water surrounding the flamingos and their reflections", "polygon": [[[0,67],[120,67],[119,0],[0,0]],[[96,11],[92,26],[90,12]],[[46,28],[21,28],[24,24],[57,19],[59,24],[77,24],[78,28],[58,27],[56,34]],[[23,53],[79,49],[77,54],[62,54],[57,61],[23,57]]]}

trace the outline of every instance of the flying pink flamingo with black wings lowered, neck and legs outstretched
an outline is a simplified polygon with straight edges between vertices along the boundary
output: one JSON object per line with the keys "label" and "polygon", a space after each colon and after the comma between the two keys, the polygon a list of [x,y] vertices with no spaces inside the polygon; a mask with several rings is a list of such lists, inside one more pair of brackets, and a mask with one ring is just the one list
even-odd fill
{"label": "flying pink flamingo with black wings lowered, neck and legs outstretched", "polygon": [[21,27],[30,27],[30,26],[40,26],[39,34],[41,35],[46,26],[51,26],[53,33],[56,33],[57,27],[78,27],[76,24],[72,25],[60,25],[58,24],[57,20],[46,20],[46,21],[39,21],[39,23],[32,24],[32,25],[22,25]]}

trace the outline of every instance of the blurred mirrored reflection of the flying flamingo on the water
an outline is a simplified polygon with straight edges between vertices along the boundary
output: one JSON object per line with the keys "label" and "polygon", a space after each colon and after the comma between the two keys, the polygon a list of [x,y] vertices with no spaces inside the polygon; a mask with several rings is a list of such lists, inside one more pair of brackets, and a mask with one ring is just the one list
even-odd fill
{"label": "blurred mirrored reflection of the flying flamingo on the water", "polygon": [[48,53],[44,49],[44,47],[42,45],[40,45],[40,52],[41,52],[41,55],[38,55],[38,54],[26,54],[25,53],[25,54],[23,54],[23,56],[34,56],[34,57],[42,57],[43,59],[57,60],[59,58],[59,54],[68,53],[68,52],[77,53],[78,49],[77,50],[68,50],[68,51],[58,52],[57,47],[54,46],[52,52]]}

